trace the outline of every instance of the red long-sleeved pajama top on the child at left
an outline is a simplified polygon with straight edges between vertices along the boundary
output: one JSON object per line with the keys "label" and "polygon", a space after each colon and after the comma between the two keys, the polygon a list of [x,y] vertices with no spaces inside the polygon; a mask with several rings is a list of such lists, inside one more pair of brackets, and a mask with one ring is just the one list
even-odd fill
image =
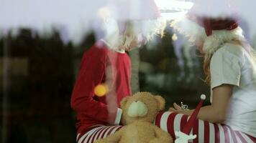
{"label": "red long-sleeved pajama top on the child at left", "polygon": [[[106,69],[110,74],[106,74]],[[94,88],[109,81],[106,79],[111,81],[109,94],[97,97]],[[126,53],[111,51],[103,41],[84,52],[71,96],[71,107],[77,112],[78,133],[96,124],[119,124],[119,103],[132,94],[130,79],[131,62]]]}

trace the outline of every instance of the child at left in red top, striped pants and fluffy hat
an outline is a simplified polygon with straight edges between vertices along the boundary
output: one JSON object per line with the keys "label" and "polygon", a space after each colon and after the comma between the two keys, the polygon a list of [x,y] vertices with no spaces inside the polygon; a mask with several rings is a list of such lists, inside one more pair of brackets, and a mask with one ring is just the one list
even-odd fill
{"label": "child at left in red top, striped pants and fluffy hat", "polygon": [[[122,117],[119,104],[124,97],[132,95],[131,61],[125,51],[144,45],[152,34],[163,33],[165,24],[158,19],[160,12],[154,1],[146,6],[152,14],[136,17],[136,21],[104,19],[105,36],[84,52],[71,97],[71,107],[77,112],[78,120],[76,142],[91,143],[121,127],[118,126]],[[145,30],[145,26],[149,29]],[[98,89],[107,92],[96,96],[101,92]]]}

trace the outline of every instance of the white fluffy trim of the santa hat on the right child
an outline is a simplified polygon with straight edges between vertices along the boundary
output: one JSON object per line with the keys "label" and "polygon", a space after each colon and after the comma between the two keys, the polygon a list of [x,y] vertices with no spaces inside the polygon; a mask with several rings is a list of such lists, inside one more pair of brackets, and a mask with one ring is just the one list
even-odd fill
{"label": "white fluffy trim of the santa hat on the right child", "polygon": [[244,41],[243,31],[239,26],[233,30],[213,30],[210,36],[206,36],[204,27],[199,26],[196,22],[186,17],[173,21],[170,26],[180,34],[185,35],[188,41],[192,43],[194,43],[196,39],[204,39],[203,51],[206,54],[213,54],[214,51],[219,49],[221,44],[228,41]]}

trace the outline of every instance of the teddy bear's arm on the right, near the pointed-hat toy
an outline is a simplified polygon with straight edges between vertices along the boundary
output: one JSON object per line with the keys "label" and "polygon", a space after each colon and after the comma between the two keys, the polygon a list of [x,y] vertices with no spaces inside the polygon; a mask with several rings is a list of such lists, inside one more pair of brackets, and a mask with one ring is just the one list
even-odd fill
{"label": "teddy bear's arm on the right, near the pointed-hat toy", "polygon": [[155,127],[155,139],[152,139],[150,143],[156,143],[156,142],[161,142],[161,143],[173,143],[173,138],[168,134],[168,132],[163,131],[159,127]]}

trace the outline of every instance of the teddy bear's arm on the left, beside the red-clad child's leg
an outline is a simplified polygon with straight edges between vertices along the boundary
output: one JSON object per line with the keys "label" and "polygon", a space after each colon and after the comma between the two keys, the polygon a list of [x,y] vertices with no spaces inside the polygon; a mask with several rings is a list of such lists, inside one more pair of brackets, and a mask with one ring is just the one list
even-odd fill
{"label": "teddy bear's arm on the left, beside the red-clad child's leg", "polygon": [[108,137],[104,139],[97,139],[94,143],[118,143],[122,137],[124,132],[124,127],[119,129],[119,131],[115,132],[114,134],[110,134]]}

